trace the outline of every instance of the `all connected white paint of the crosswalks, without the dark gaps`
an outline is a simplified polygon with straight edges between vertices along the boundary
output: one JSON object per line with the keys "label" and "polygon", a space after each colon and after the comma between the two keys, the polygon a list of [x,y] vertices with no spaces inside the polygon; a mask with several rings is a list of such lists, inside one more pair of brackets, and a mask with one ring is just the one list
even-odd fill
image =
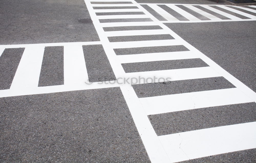
{"label": "all connected white paint of the crosswalks, without the dark gaps", "polygon": [[[105,0],[93,0],[94,2],[101,2]],[[114,0],[119,2],[120,0]],[[107,0],[105,2],[114,2]],[[124,1],[124,0],[121,0]],[[189,131],[184,133],[170,134],[164,136],[157,136],[147,115],[161,114],[165,112],[180,111],[187,109],[196,109],[210,106],[221,106],[230,104],[239,104],[247,102],[256,102],[256,93],[249,89],[242,82],[234,78],[231,74],[217,65],[210,58],[199,52],[195,47],[188,44],[176,33],[170,30],[162,22],[175,22],[177,20],[169,17],[169,21],[158,21],[147,10],[135,1],[133,4],[90,4],[85,0],[90,16],[93,20],[95,29],[97,30],[100,40],[96,42],[78,42],[78,43],[49,43],[49,44],[24,44],[24,45],[0,45],[0,55],[4,48],[25,47],[24,55],[20,61],[17,72],[15,74],[13,83],[9,90],[0,90],[0,97],[42,94],[53,92],[64,92],[74,90],[99,89],[107,87],[120,87],[126,103],[130,109],[131,115],[137,127],[138,133],[141,136],[145,149],[150,160],[153,163],[158,162],[176,162],[192,158],[205,157],[214,154],[221,154],[226,152],[233,152],[237,150],[255,148],[255,127],[256,122],[236,124],[231,126],[223,126],[217,128],[202,129],[196,131]],[[156,4],[148,4],[154,6]],[[152,22],[115,22],[115,23],[100,23],[99,18],[95,12],[104,12],[106,10],[94,10],[92,6],[137,6],[141,11],[150,17]],[[172,5],[173,6],[173,5]],[[189,6],[189,5],[186,5]],[[211,5],[201,5],[205,8]],[[215,5],[214,5],[215,6]],[[219,6],[219,5],[216,5]],[[159,7],[153,7],[158,8]],[[177,6],[174,7],[177,10]],[[195,9],[189,6],[190,9]],[[158,10],[157,9],[157,10]],[[210,10],[216,10],[210,7]],[[111,10],[107,10],[111,12]],[[115,9],[113,9],[115,11]],[[121,11],[121,10],[119,10]],[[182,15],[186,15],[189,19],[194,19],[184,10],[178,9]],[[219,10],[218,10],[219,12]],[[163,11],[162,11],[163,13]],[[203,13],[203,12],[201,12]],[[222,12],[219,12],[223,15]],[[225,12],[224,12],[225,13]],[[165,13],[166,14],[166,13]],[[204,13],[205,14],[205,13]],[[203,14],[202,14],[203,15]],[[225,13],[224,16],[229,16]],[[167,15],[165,15],[168,17]],[[209,16],[206,14],[205,16]],[[105,16],[104,16],[105,17]],[[107,16],[113,18],[116,16]],[[212,18],[212,16],[211,16]],[[210,20],[210,21],[244,21],[232,16],[232,20]],[[254,19],[248,19],[254,20]],[[248,21],[246,20],[246,21]],[[177,21],[185,22],[185,21]],[[201,20],[193,20],[186,22],[207,22]],[[120,26],[151,26],[158,25],[163,30],[145,30],[145,31],[110,31],[104,32],[102,27],[120,27]],[[150,32],[151,31],[151,32]],[[142,35],[146,32],[156,34],[156,31],[165,31],[170,34],[175,40],[153,40],[153,41],[133,41],[133,42],[109,42],[108,36],[121,35]],[[140,34],[142,33],[142,34]],[[159,33],[158,33],[159,34]],[[109,84],[112,81],[107,81],[105,84],[95,82],[91,85],[82,83],[88,79],[86,64],[83,57],[82,45],[102,44],[104,51],[110,61],[111,67],[115,73],[116,78],[136,77],[142,78],[171,78],[170,81],[198,79],[223,76],[231,82],[236,88],[221,89],[212,91],[201,91],[183,94],[174,94],[166,96],[138,98],[133,87],[129,84]],[[167,53],[150,53],[150,54],[134,54],[117,56],[113,48],[128,48],[128,47],[148,47],[148,46],[167,46],[167,45],[184,45],[190,51],[186,52],[167,52]],[[37,87],[43,48],[45,46],[64,46],[64,85]],[[33,55],[38,52],[38,55]],[[157,60],[173,60],[173,59],[188,59],[200,58],[205,61],[209,67],[175,69],[175,70],[161,70],[161,71],[146,71],[125,73],[121,63],[131,62],[145,62]],[[30,73],[27,73],[30,72]],[[31,80],[30,80],[31,79]],[[144,82],[147,83],[147,82]],[[148,82],[149,83],[149,82]],[[239,132],[237,132],[239,131]],[[209,141],[211,138],[211,141]],[[211,146],[212,148],[208,148]],[[218,148],[221,147],[221,148]],[[185,154],[184,154],[185,152]]]}

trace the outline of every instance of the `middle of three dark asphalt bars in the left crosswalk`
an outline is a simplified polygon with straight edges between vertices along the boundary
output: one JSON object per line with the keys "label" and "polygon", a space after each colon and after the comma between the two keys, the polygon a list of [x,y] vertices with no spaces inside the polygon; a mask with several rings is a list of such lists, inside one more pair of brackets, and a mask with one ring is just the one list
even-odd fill
{"label": "middle of three dark asphalt bars in the left crosswalk", "polygon": [[63,48],[63,46],[45,47],[38,86],[64,84]]}

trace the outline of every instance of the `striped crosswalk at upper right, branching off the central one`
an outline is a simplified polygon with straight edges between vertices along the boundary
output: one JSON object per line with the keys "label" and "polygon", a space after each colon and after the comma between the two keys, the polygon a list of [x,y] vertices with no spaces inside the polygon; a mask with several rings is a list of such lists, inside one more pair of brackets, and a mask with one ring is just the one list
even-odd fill
{"label": "striped crosswalk at upper right, branching off the central one", "polygon": [[140,4],[163,22],[212,22],[255,20],[256,10],[229,5]]}

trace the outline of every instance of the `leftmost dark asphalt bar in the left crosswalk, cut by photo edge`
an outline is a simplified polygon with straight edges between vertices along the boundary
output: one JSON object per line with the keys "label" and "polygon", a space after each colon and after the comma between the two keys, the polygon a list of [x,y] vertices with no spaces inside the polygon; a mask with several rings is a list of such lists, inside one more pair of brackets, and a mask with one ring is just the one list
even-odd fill
{"label": "leftmost dark asphalt bar in the left crosswalk, cut by photo edge", "polygon": [[0,90],[10,89],[25,48],[7,48],[0,56]]}

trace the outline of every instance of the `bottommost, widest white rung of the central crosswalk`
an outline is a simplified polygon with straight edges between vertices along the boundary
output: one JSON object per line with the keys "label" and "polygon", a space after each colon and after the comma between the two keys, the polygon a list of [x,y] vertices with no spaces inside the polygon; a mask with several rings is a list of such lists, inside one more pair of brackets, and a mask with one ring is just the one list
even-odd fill
{"label": "bottommost, widest white rung of the central crosswalk", "polygon": [[158,136],[170,162],[256,148],[256,122]]}

